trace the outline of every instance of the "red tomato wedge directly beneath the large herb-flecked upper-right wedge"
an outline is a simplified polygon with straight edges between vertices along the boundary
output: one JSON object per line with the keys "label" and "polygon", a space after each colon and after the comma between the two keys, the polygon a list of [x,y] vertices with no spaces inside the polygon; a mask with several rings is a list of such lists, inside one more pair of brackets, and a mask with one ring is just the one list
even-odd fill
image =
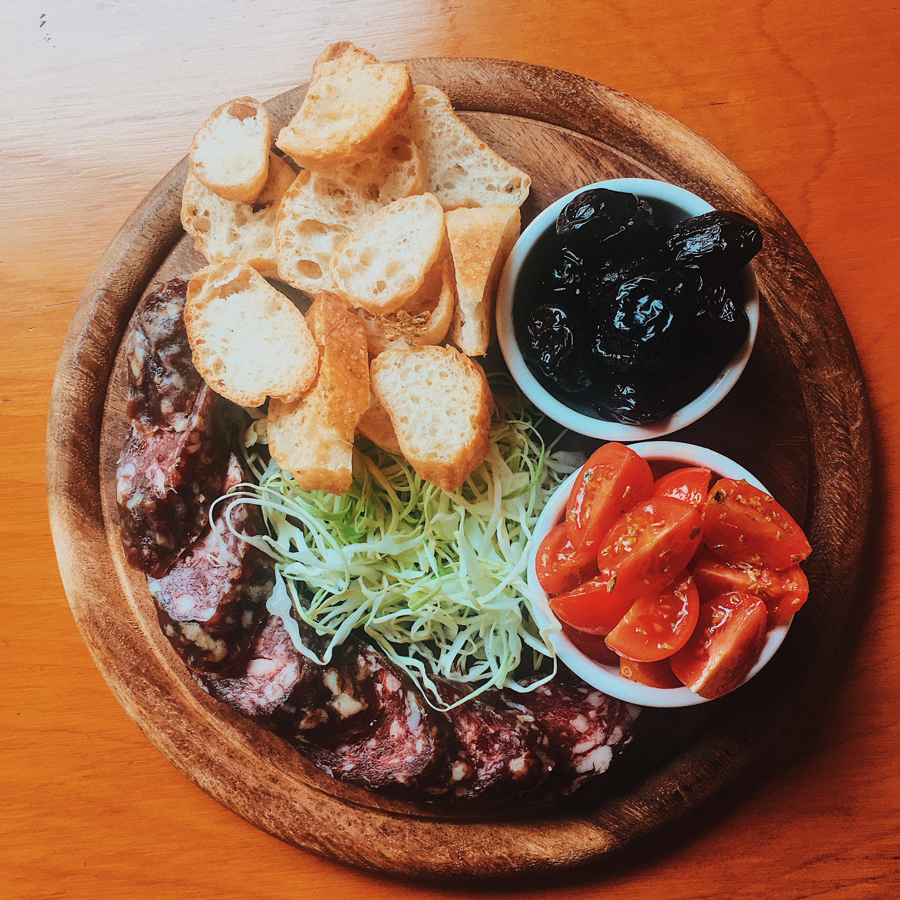
{"label": "red tomato wedge directly beneath the large herb-flecked upper-right wedge", "polygon": [[691,575],[697,583],[701,603],[734,591],[760,597],[769,610],[768,628],[793,616],[809,596],[809,582],[798,565],[781,572],[733,566],[707,547],[700,548]]}

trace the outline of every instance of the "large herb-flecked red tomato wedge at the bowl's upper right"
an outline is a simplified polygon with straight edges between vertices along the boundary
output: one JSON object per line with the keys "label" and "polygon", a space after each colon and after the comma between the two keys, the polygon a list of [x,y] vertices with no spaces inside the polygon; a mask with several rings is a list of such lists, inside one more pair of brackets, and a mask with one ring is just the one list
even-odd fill
{"label": "large herb-flecked red tomato wedge at the bowl's upper right", "polygon": [[813,552],[788,512],[747,482],[717,481],[704,504],[703,522],[707,547],[727,563],[789,569]]}

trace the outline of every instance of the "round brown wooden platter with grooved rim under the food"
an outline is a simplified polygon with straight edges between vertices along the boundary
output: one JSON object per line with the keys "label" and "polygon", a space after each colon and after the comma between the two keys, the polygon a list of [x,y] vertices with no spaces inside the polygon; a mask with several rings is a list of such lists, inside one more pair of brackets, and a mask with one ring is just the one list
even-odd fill
{"label": "round brown wooden platter with grooved rim under the food", "polygon": [[[203,260],[179,221],[182,160],[132,213],[85,288],[50,403],[47,485],[59,568],[76,622],[116,698],[175,767],[276,837],[333,860],[421,878],[483,878],[596,859],[734,783],[823,684],[854,598],[869,522],[869,407],[837,303],[769,198],[677,121],[603,85],[488,59],[409,61],[501,155],[529,172],[526,222],[604,178],[680,184],[760,223],[761,330],[734,391],[675,439],[757,474],[801,522],[811,599],[769,666],[733,695],[644,710],[608,773],[553,806],[403,803],[317,770],[194,684],[160,634],[146,581],[123,562],[114,468],[127,427],[122,335],[142,293]],[[300,87],[266,106],[275,132]],[[199,123],[198,123],[199,124]]]}

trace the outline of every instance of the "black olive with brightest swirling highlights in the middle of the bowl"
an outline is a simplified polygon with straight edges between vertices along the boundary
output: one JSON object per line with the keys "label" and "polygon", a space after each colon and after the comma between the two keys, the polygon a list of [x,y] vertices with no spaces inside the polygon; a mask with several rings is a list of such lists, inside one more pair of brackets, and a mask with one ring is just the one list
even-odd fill
{"label": "black olive with brightest swirling highlights in the middle of the bowl", "polygon": [[688,318],[678,295],[681,281],[677,272],[652,272],[628,277],[615,294],[600,294],[592,311],[599,319],[593,355],[620,372],[652,372],[665,365]]}

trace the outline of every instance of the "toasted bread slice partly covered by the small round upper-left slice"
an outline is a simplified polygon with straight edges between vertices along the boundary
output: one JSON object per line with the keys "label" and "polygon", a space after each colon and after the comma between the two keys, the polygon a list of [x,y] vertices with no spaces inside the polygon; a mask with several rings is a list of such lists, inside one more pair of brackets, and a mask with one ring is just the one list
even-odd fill
{"label": "toasted bread slice partly covered by the small round upper-left slice", "polygon": [[205,184],[188,175],[181,201],[181,223],[193,246],[207,262],[237,259],[268,278],[278,277],[275,264],[275,215],[296,174],[284,159],[272,154],[269,175],[256,203],[222,200]]}

